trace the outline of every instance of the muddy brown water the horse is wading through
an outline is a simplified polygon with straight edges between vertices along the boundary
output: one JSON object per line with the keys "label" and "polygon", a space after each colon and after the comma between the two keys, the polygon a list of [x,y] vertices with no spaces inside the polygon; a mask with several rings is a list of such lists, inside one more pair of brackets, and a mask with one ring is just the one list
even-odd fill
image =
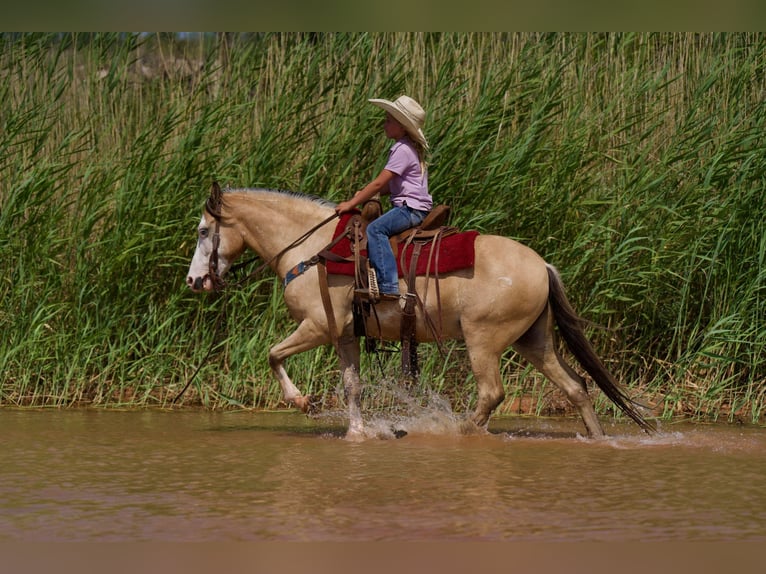
{"label": "muddy brown water the horse is wading through", "polygon": [[766,429],[0,410],[0,542],[765,541]]}

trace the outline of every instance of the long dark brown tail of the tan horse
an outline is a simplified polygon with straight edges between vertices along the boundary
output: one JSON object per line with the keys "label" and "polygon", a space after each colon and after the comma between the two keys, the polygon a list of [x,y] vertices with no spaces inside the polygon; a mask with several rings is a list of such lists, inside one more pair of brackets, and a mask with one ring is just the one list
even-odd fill
{"label": "long dark brown tail of the tan horse", "polygon": [[637,407],[641,405],[628,396],[596,355],[583,331],[583,326],[587,324],[587,321],[577,315],[569,303],[559,272],[552,265],[546,264],[546,267],[548,269],[548,302],[553,310],[559,333],[561,333],[567,347],[603,393],[623,413],[633,419],[645,432],[655,432],[656,427],[647,421],[638,410]]}

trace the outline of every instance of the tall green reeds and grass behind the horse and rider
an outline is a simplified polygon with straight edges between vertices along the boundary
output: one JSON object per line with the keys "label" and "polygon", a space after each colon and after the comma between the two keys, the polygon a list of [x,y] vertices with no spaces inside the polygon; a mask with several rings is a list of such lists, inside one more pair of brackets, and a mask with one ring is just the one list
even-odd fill
{"label": "tall green reeds and grass behind the horse and rider", "polygon": [[[184,285],[210,182],[346,198],[388,146],[366,100],[408,93],[453,223],[556,265],[633,392],[759,420],[765,61],[761,34],[2,35],[0,404],[168,405],[213,344],[186,404],[276,407],[278,282]],[[449,349],[421,347],[423,379],[468,408]],[[395,355],[364,361],[396,377]],[[506,409],[556,403],[513,352],[502,367]],[[329,348],[288,368],[339,400]]]}

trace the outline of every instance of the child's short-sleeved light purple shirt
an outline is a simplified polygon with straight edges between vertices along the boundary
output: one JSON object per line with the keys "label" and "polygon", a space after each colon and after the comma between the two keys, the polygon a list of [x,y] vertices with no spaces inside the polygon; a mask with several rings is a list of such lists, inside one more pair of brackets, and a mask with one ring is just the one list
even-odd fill
{"label": "child's short-sleeved light purple shirt", "polygon": [[420,159],[415,146],[404,137],[391,146],[385,169],[393,172],[394,177],[388,184],[391,203],[404,205],[421,211],[430,211],[433,199],[428,193],[428,170],[420,169]]}

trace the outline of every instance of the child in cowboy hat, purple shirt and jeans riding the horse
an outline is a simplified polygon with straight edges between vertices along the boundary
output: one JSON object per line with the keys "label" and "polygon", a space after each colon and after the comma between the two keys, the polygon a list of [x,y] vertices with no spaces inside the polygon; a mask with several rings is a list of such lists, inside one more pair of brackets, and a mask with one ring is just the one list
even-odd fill
{"label": "child in cowboy hat, purple shirt and jeans riding the horse", "polygon": [[393,102],[369,101],[386,111],[383,128],[394,144],[378,176],[351,199],[339,203],[335,211],[339,215],[351,211],[378,193],[391,196],[392,208],[367,226],[367,257],[375,270],[380,299],[398,299],[399,274],[389,238],[419,225],[433,206],[425,164],[426,114],[409,96],[400,96]]}

